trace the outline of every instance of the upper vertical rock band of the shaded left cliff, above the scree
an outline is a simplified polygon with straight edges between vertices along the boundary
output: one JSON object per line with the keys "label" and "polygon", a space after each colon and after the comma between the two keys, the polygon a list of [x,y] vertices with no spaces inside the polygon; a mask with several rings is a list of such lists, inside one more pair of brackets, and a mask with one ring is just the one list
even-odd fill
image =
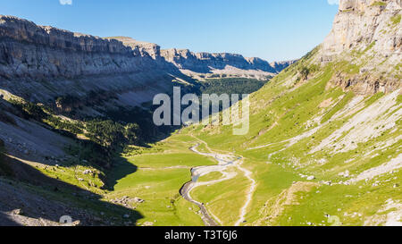
{"label": "upper vertical rock band of the shaded left cliff, above the scree", "polygon": [[[132,72],[139,55],[115,39],[105,40],[30,21],[0,17],[1,73],[10,78]],[[137,69],[136,69],[137,68]]]}

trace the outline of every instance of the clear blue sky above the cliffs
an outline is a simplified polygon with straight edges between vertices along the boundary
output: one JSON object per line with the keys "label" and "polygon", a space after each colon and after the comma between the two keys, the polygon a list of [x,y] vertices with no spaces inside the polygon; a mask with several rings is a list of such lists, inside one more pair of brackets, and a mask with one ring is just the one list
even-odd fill
{"label": "clear blue sky above the cliffs", "polygon": [[334,0],[63,1],[71,0],[0,0],[0,14],[99,37],[127,36],[162,48],[281,61],[320,44],[338,11],[328,2]]}

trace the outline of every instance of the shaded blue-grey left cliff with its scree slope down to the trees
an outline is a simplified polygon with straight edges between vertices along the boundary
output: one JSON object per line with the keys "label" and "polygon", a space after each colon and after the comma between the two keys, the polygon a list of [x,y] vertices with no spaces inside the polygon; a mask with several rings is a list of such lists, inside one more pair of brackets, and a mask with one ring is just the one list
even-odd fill
{"label": "shaded blue-grey left cliff with its scree slope down to the trees", "polygon": [[[166,72],[169,70],[169,72]],[[34,102],[77,100],[107,91],[116,103],[140,105],[184,77],[142,49],[116,39],[73,33],[0,16],[0,88]],[[80,103],[80,101],[76,101]]]}

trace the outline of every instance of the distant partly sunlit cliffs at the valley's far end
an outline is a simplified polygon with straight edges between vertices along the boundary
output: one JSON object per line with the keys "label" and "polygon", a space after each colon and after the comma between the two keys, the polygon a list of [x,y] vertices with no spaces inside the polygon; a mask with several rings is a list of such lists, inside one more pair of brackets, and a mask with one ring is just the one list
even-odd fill
{"label": "distant partly sunlit cliffs at the valley's far end", "polygon": [[267,61],[236,54],[193,53],[188,49],[166,49],[153,43],[141,42],[132,38],[117,37],[126,46],[138,48],[141,54],[149,54],[156,61],[172,63],[180,72],[196,78],[249,77],[271,78],[296,61],[268,63]]}

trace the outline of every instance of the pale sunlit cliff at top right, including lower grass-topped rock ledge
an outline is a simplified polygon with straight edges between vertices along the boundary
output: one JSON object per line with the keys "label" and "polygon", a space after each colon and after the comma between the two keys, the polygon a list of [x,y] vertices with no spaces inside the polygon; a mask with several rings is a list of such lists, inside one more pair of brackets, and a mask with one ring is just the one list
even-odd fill
{"label": "pale sunlit cliff at top right, including lower grass-topped rock ledge", "polygon": [[319,62],[347,62],[332,83],[359,94],[401,87],[401,0],[340,0]]}

